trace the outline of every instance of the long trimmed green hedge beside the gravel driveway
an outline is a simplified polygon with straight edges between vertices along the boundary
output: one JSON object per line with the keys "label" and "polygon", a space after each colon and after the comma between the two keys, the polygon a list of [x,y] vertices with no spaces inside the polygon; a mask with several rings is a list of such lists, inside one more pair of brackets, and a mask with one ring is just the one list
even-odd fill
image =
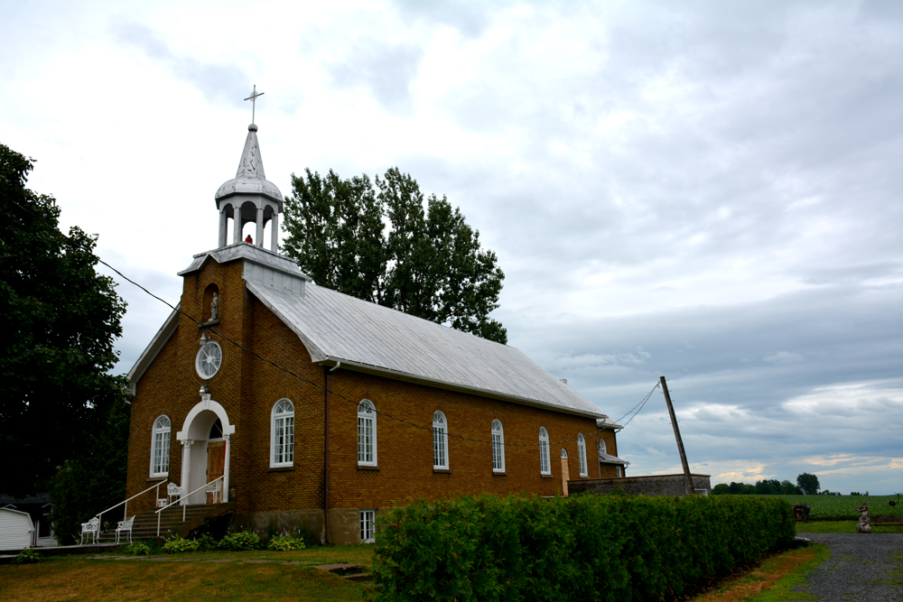
{"label": "long trimmed green hedge beside the gravel driveway", "polygon": [[662,600],[793,542],[785,500],[465,496],[381,514],[377,600]]}

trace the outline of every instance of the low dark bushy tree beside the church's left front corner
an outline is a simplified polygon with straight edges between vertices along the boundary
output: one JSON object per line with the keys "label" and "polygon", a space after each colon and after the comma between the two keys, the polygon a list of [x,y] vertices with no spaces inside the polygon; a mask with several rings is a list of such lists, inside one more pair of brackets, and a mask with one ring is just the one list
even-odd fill
{"label": "low dark bushy tree beside the church's left front corner", "polygon": [[[97,412],[93,428],[83,434],[82,445],[53,477],[51,520],[62,545],[78,542],[81,523],[126,497],[130,408],[126,403],[113,403],[107,412]],[[104,523],[115,527],[116,521],[123,520],[124,511],[120,506],[104,514]]]}

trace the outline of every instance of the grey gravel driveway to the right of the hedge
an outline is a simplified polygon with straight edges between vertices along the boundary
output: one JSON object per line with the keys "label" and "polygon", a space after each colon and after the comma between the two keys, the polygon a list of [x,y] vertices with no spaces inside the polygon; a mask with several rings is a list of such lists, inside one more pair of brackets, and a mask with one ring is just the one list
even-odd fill
{"label": "grey gravel driveway to the right of the hedge", "polygon": [[793,591],[826,602],[903,602],[903,533],[802,536],[824,543],[832,555]]}

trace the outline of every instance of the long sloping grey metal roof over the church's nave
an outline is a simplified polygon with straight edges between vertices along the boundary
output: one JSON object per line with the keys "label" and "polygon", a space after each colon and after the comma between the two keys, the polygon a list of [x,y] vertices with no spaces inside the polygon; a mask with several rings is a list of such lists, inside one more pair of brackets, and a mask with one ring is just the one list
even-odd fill
{"label": "long sloping grey metal roof over the church's nave", "polygon": [[593,403],[508,347],[306,282],[303,294],[246,276],[247,288],[302,339],[314,362],[604,418]]}

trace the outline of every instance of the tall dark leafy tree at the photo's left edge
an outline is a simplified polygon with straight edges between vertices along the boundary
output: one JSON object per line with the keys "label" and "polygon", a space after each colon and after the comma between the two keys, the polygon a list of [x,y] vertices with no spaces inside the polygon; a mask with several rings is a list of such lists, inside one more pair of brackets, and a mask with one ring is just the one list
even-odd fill
{"label": "tall dark leafy tree at the photo's left edge", "polygon": [[124,384],[107,373],[126,303],[95,271],[97,236],[61,236],[56,201],[25,188],[32,168],[0,144],[0,489],[16,496],[47,486],[98,412],[122,403]]}

